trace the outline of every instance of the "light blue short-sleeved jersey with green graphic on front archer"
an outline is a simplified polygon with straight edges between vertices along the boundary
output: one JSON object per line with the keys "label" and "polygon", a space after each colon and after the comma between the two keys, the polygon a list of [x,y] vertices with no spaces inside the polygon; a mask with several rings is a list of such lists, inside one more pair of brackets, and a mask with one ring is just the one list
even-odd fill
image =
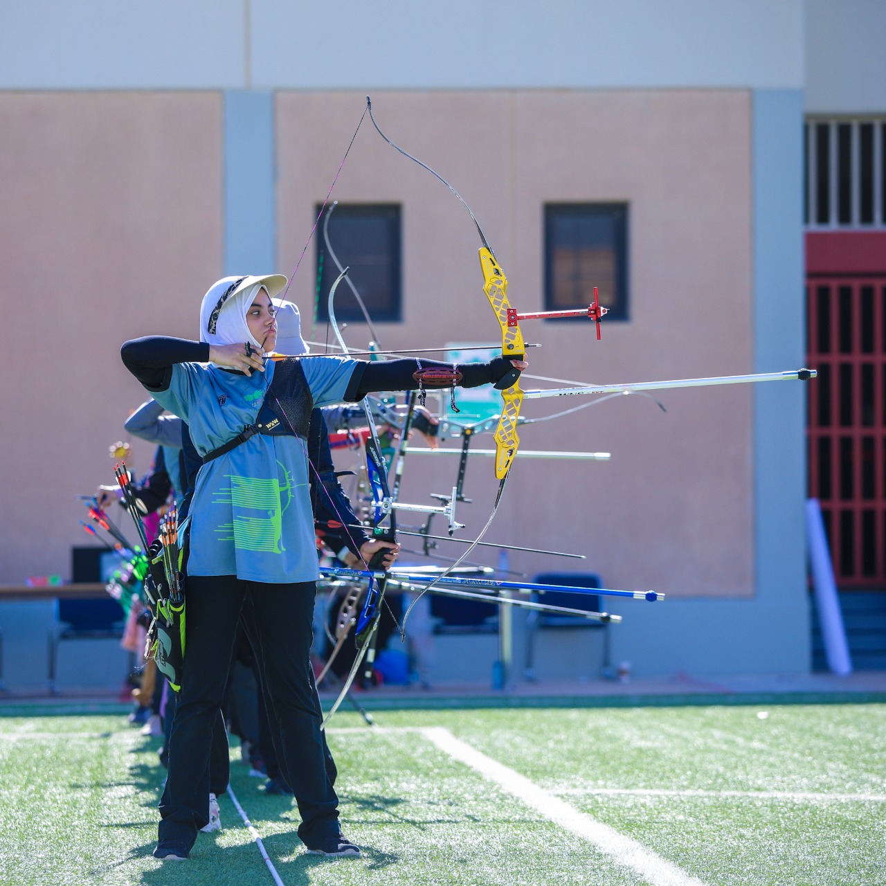
{"label": "light blue short-sleeved jersey with green graphic on front archer", "polygon": [[[204,363],[176,363],[154,400],[190,425],[200,455],[255,424],[274,377],[238,375]],[[358,361],[304,357],[315,406],[340,403]],[[272,584],[318,578],[307,441],[256,434],[205,464],[190,506],[190,575],[236,575]]]}

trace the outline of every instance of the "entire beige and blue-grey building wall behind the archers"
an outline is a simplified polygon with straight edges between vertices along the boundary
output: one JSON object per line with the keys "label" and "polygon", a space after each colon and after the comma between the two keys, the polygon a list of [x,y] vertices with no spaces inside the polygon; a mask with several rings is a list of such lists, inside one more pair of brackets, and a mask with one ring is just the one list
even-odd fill
{"label": "entire beige and blue-grey building wall behind the archers", "polygon": [[[610,382],[800,364],[807,6],[541,8],[0,9],[0,296],[12,340],[35,351],[8,370],[0,408],[19,415],[24,393],[36,429],[7,435],[0,462],[16,514],[0,581],[66,574],[83,542],[75,495],[108,481],[105,447],[143,398],[120,342],[194,335],[222,274],[291,273],[367,92],[388,135],[468,198],[521,309],[541,304],[545,202],[629,203],[631,321],[601,343],[583,323],[528,326],[544,345],[531,372]],[[333,196],[402,203],[405,323],[381,325],[385,346],[494,339],[469,216],[368,120]],[[313,304],[314,285],[311,245],[291,294]],[[360,344],[360,324],[349,335]],[[526,448],[613,459],[517,462],[490,540],[586,552],[610,587],[665,591],[663,606],[611,607],[626,616],[613,657],[635,673],[805,670],[804,394],[776,387],[669,392],[666,415],[622,398],[526,426]],[[150,455],[136,444],[136,470]],[[446,490],[454,470],[409,467],[404,497]],[[492,507],[490,464],[470,463],[466,493],[467,534]],[[22,612],[0,610],[0,625]]]}

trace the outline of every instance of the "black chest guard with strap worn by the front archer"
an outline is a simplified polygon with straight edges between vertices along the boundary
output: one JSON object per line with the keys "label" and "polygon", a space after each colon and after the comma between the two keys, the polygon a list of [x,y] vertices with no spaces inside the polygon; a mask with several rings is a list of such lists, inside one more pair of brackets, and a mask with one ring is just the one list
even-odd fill
{"label": "black chest guard with strap worn by the front archer", "polygon": [[203,463],[212,462],[256,434],[307,438],[313,408],[314,398],[307,386],[301,361],[295,358],[276,361],[274,378],[259,409],[258,421],[247,424],[235,438],[207,452],[203,456]]}

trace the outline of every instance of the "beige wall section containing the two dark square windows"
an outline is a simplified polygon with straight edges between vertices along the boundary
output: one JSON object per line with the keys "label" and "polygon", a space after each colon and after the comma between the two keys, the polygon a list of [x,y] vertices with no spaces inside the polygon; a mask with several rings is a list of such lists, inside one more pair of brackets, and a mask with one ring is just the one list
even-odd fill
{"label": "beige wall section containing the two dark square windows", "polygon": [[[326,196],[362,105],[356,93],[278,95],[285,273],[299,260],[312,207]],[[388,136],[468,200],[521,310],[542,303],[544,203],[630,204],[631,321],[604,326],[599,343],[589,323],[525,322],[526,339],[543,345],[531,352],[530,372],[608,383],[751,371],[746,91],[387,92],[373,97],[373,108]],[[406,323],[379,325],[386,347],[494,340],[469,215],[392,151],[368,118],[333,197],[403,205]],[[314,254],[312,244],[291,287],[303,306],[314,302]],[[365,344],[363,330],[354,324],[354,346]],[[612,460],[518,460],[488,540],[585,553],[608,587],[752,595],[750,391],[683,390],[660,399],[666,415],[634,396],[525,427],[526,448],[606,450]],[[575,405],[526,401],[523,414]],[[404,499],[451,488],[455,460],[447,465],[408,464]],[[462,510],[466,536],[486,522],[495,486],[488,460],[470,462],[466,494],[475,503]],[[530,573],[575,568],[528,555],[511,563]]]}

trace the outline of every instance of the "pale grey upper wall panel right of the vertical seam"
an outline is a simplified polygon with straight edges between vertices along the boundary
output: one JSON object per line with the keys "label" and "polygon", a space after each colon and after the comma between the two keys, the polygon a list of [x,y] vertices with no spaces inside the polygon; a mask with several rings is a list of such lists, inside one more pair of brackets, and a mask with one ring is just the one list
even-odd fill
{"label": "pale grey upper wall panel right of the vertical seam", "polygon": [[800,0],[253,0],[264,88],[802,85]]}

